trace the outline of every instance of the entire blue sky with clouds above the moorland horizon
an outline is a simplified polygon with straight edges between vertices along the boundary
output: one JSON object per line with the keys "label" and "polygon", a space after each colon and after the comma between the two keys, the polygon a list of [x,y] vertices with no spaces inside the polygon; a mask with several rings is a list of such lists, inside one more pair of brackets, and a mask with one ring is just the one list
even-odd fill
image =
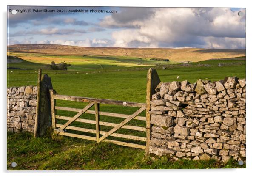
{"label": "entire blue sky with clouds above the moorland horizon", "polygon": [[7,44],[241,49],[245,8],[8,6]]}

